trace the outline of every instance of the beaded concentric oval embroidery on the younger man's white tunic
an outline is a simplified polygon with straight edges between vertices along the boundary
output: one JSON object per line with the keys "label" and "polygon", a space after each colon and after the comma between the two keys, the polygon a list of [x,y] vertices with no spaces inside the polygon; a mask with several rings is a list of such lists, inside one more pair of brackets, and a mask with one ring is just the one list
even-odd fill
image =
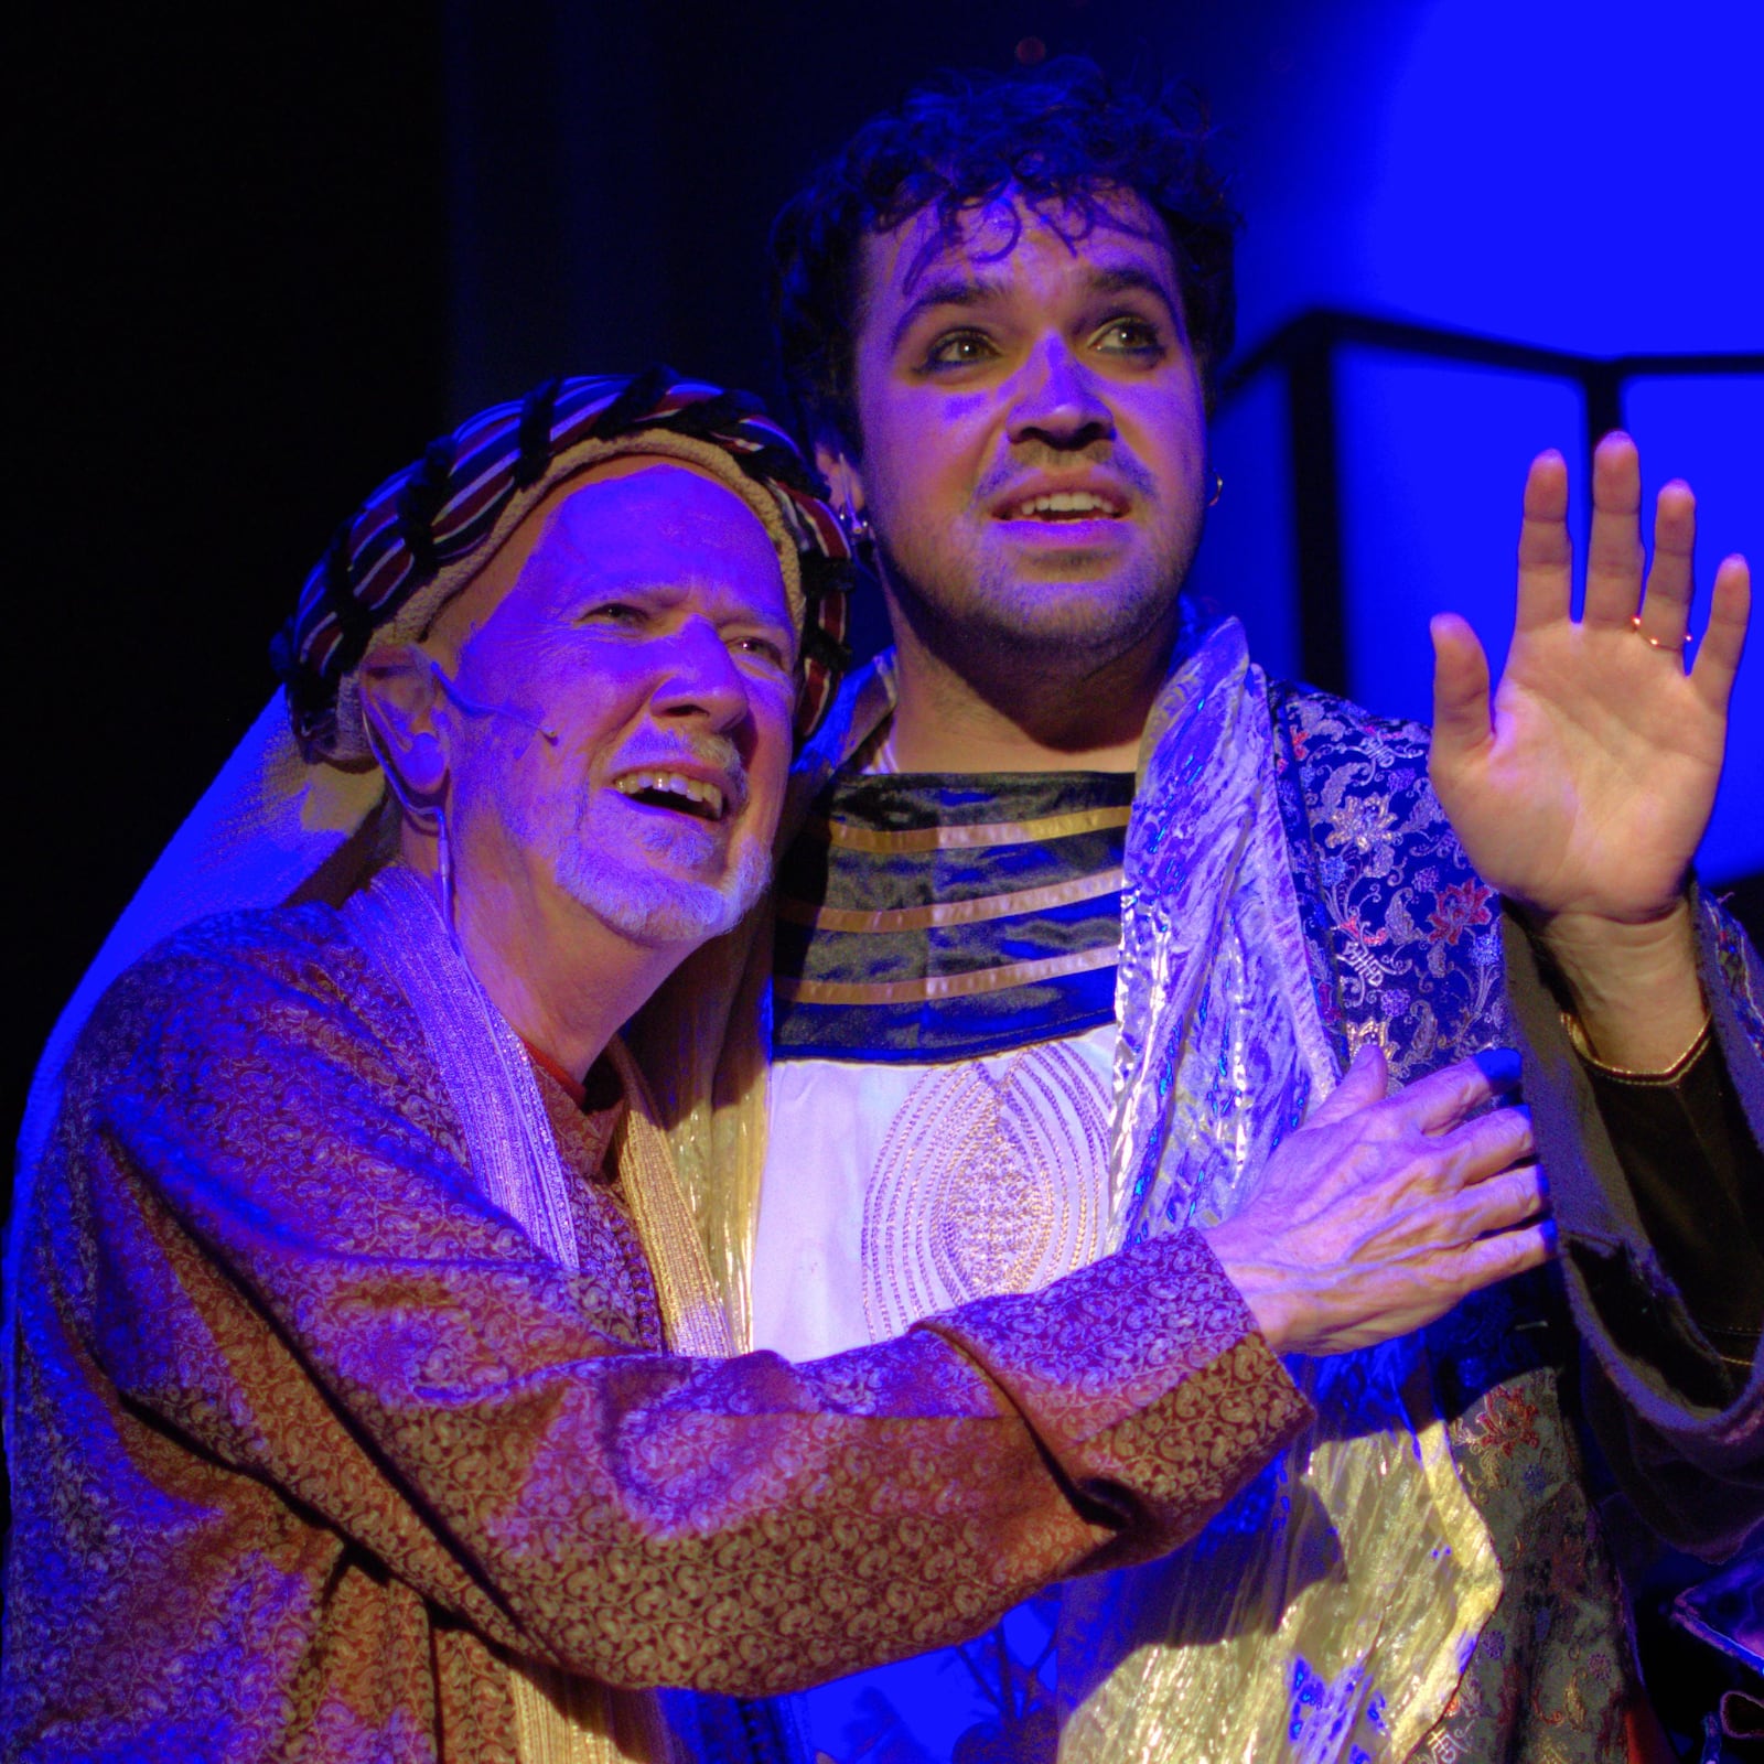
{"label": "beaded concentric oval embroidery on the younger man's white tunic", "polygon": [[1044,1043],[1002,1069],[926,1073],[864,1189],[871,1339],[1081,1268],[1101,1252],[1106,1184],[1108,1099],[1071,1048]]}

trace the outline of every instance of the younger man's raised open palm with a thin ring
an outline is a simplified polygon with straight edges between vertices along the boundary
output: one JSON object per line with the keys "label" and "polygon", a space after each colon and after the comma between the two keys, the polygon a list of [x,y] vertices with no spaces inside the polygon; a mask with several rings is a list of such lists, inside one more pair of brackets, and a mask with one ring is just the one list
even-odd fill
{"label": "younger man's raised open palm with a thin ring", "polygon": [[1475,633],[1454,614],[1432,623],[1432,783],[1482,877],[1538,921],[1637,926],[1678,908],[1709,820],[1750,577],[1743,557],[1722,563],[1686,672],[1690,485],[1660,492],[1644,593],[1641,462],[1628,436],[1605,436],[1579,623],[1566,512],[1568,469],[1542,453],[1526,480],[1519,612],[1492,718]]}

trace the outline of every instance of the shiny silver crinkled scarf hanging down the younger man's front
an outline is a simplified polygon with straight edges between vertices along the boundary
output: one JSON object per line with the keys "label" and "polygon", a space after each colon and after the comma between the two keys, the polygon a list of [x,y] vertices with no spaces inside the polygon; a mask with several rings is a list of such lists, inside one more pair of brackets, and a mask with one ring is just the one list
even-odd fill
{"label": "shiny silver crinkled scarf hanging down the younger man's front", "polygon": [[[1111,1247],[1228,1217],[1339,1069],[1305,972],[1261,670],[1166,686],[1127,836]],[[1191,1545],[1067,1588],[1062,1759],[1402,1759],[1499,1596],[1418,1337],[1289,1369],[1307,1436]]]}

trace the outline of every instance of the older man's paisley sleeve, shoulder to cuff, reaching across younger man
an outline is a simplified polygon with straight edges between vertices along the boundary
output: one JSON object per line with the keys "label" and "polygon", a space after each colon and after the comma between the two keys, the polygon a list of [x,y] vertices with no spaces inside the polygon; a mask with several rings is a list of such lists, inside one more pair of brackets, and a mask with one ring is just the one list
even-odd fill
{"label": "older man's paisley sleeve, shoulder to cuff, reaching across younger man", "polygon": [[476,1196],[348,946],[162,958],[101,1016],[56,1177],[83,1349],[572,1672],[755,1695],[961,1639],[1173,1545],[1302,1411],[1191,1235],[813,1365],[670,1357],[610,1200],[566,1275]]}

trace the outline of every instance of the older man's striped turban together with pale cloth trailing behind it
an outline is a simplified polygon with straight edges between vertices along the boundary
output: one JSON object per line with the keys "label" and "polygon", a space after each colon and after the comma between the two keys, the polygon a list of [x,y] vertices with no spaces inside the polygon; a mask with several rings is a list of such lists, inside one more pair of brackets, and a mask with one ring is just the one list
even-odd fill
{"label": "older man's striped turban together with pale cloth trailing behind it", "polygon": [[[803,632],[797,727],[806,734],[820,721],[847,660],[850,547],[813,467],[755,399],[654,367],[554,379],[473,416],[388,478],[307,577],[273,646],[282,690],[123,908],[49,1035],[19,1132],[14,1219],[60,1106],[74,1035],[131,961],[212,912],[339,905],[374,868],[386,781],[355,677],[374,637],[422,637],[550,489],[619,453],[690,460],[759,515]],[[0,1300],[11,1291],[7,1279]]]}

